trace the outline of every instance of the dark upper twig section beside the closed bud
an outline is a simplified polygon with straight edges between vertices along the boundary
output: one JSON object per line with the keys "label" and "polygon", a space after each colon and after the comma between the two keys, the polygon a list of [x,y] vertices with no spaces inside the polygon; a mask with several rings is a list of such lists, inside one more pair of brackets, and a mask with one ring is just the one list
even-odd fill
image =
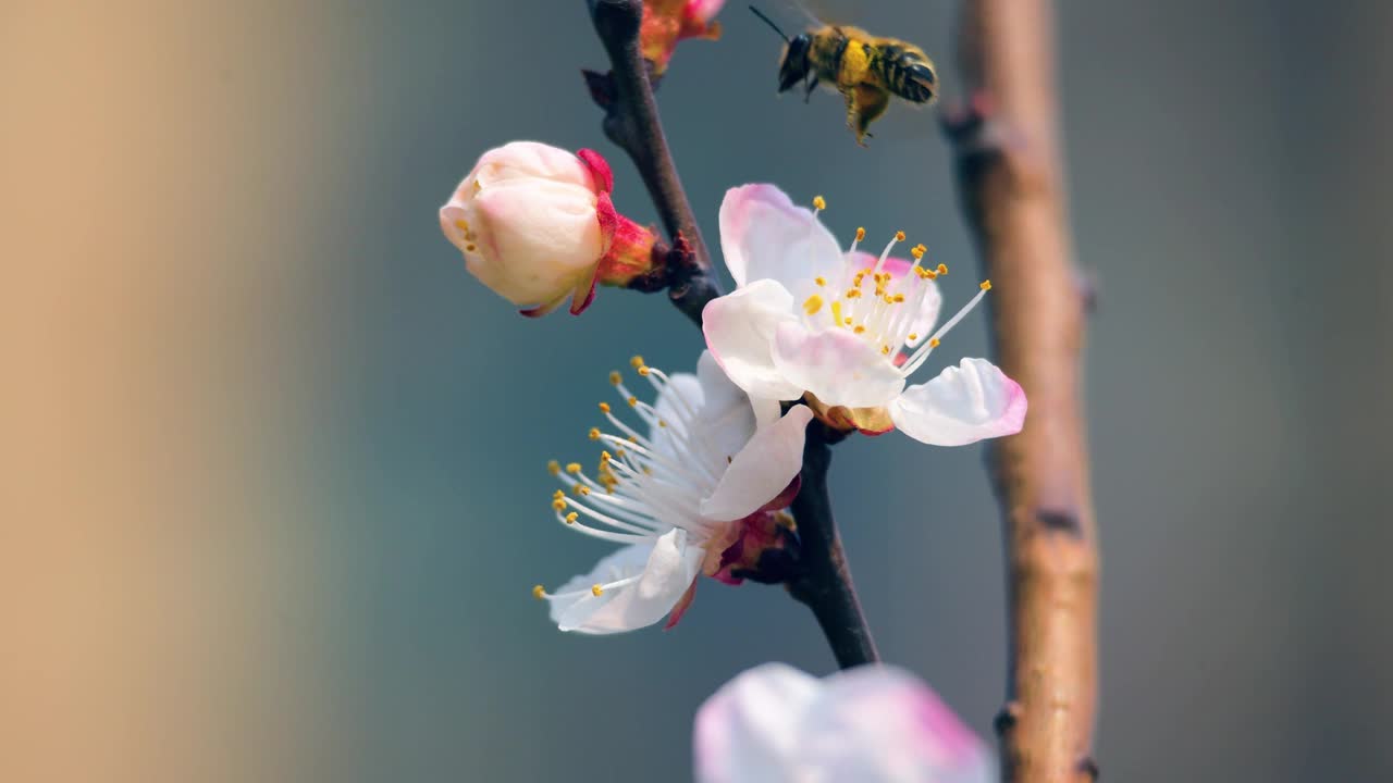
{"label": "dark upper twig section beside the closed bud", "polygon": [[595,32],[610,59],[607,75],[586,74],[591,93],[605,109],[605,135],[634,162],[673,247],[681,247],[681,237],[690,248],[685,255],[673,256],[667,269],[667,290],[677,309],[699,326],[702,308],[722,291],[710,273],[710,252],[696,227],[696,217],[667,149],[648,65],[639,53],[638,29],[644,18],[644,3],[586,1]]}

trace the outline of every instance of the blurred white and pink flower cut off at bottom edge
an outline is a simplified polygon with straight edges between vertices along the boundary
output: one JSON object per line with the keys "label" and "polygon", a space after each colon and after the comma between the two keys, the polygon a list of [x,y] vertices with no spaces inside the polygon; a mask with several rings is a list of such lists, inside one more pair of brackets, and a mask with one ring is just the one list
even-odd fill
{"label": "blurred white and pink flower cut off at bottom edge", "polygon": [[698,783],[989,783],[986,747],[917,677],[861,666],[818,680],[751,669],[706,699]]}

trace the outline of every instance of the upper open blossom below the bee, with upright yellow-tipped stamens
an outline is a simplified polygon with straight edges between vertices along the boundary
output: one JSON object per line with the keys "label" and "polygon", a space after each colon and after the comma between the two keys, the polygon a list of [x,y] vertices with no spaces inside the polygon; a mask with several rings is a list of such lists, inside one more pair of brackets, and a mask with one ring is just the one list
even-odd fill
{"label": "upper open blossom below the bee, with upright yellow-tipped stamens", "polygon": [[[820,210],[820,196],[815,205]],[[816,212],[773,185],[744,185],[720,205],[720,245],[738,288],[702,313],[706,346],[752,398],[807,401],[832,426],[869,435],[900,428],[933,446],[963,446],[1020,432],[1025,393],[986,359],[963,359],[905,387],[976,297],[932,334],[947,266],[846,254]]]}

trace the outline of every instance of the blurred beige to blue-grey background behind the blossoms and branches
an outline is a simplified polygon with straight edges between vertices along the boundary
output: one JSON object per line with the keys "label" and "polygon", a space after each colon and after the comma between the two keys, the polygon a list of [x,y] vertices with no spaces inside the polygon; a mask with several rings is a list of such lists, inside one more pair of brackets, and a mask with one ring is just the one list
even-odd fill
{"label": "blurred beige to blue-grey background behind the blossoms and branches", "polygon": [[[855,20],[933,54],[953,8]],[[742,7],[659,95],[708,240],[726,188],[972,262],[946,145],[775,99]],[[1393,776],[1393,6],[1060,3],[1103,550],[1105,780]],[[528,591],[605,550],[543,465],[606,372],[690,366],[662,297],[518,318],[436,209],[485,149],[593,146],[579,0],[0,7],[0,779],[683,780],[737,672],[833,662],[780,589],[563,635]],[[946,279],[949,302],[972,274]],[[954,351],[985,350],[985,320]],[[956,355],[956,354],[954,354]],[[588,458],[588,457],[586,457]],[[1000,531],[981,447],[837,449],[886,659],[989,736]]]}

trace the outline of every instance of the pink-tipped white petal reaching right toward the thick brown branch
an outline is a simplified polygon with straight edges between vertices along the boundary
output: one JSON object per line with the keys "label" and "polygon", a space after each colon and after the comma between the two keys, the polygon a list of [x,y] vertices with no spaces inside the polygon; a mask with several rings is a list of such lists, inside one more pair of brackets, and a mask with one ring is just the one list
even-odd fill
{"label": "pink-tipped white petal reaching right toward the thick brown branch", "polygon": [[890,421],[931,446],[965,446],[1021,431],[1025,392],[986,359],[963,359],[890,404]]}

